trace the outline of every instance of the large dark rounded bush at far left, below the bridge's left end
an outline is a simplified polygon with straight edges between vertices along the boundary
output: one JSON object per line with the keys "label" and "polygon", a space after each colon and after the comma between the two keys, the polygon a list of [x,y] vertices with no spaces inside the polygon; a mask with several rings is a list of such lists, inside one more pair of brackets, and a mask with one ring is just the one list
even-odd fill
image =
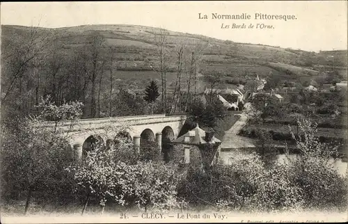
{"label": "large dark rounded bush at far left, below the bridge's left end", "polygon": [[[30,201],[63,202],[74,198],[72,179],[65,166],[74,163],[72,148],[64,137],[48,129],[36,119],[21,119],[3,126],[1,139],[1,189],[4,199],[26,197],[24,213]],[[40,198],[36,196],[40,196]]]}

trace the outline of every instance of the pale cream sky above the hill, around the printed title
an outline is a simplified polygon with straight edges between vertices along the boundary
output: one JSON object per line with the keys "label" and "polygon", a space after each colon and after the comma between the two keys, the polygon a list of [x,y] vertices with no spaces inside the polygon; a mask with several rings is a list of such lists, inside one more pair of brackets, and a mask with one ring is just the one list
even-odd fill
{"label": "pale cream sky above the hill, around the printed title", "polygon": [[[198,13],[208,19],[199,19]],[[212,13],[246,13],[251,19],[212,19]],[[296,19],[256,20],[255,13],[294,15]],[[5,2],[0,22],[47,28],[134,24],[307,51],[347,49],[347,1]],[[246,29],[232,29],[233,24],[244,24]],[[247,29],[250,24],[253,29]],[[257,24],[273,29],[255,29]],[[229,29],[221,29],[226,25]]]}

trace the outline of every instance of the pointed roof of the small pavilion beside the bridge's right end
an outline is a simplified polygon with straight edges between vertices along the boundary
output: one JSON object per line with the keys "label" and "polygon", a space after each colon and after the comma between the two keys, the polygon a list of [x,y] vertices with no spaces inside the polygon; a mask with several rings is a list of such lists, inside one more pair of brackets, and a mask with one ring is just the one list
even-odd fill
{"label": "pointed roof of the small pavilion beside the bridge's right end", "polygon": [[[189,141],[185,142],[185,137],[189,137]],[[187,131],[186,134],[175,139],[173,143],[181,143],[187,145],[199,145],[207,143],[205,141],[205,130],[200,129],[200,127],[198,127],[197,124],[197,126],[194,129],[192,129],[191,131]],[[213,137],[212,143],[221,143],[221,141],[218,138]]]}

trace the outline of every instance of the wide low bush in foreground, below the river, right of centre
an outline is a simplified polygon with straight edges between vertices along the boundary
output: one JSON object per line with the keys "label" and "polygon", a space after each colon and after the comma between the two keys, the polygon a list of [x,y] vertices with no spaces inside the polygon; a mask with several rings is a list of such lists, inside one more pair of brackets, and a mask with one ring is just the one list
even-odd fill
{"label": "wide low bush in foreground, below the river, right of centre", "polygon": [[267,170],[260,157],[243,156],[229,166],[218,164],[209,175],[201,170],[189,173],[180,185],[185,200],[234,211],[292,209],[301,205],[299,189],[283,171]]}

